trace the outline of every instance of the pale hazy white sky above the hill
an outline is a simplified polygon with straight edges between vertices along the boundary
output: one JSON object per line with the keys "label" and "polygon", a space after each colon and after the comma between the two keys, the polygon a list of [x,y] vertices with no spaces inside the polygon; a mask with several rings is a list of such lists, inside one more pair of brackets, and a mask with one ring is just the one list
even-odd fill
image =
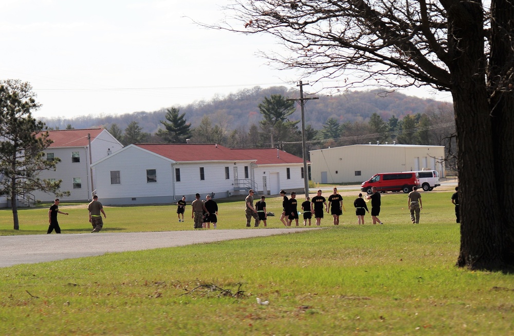
{"label": "pale hazy white sky above the hill", "polygon": [[271,37],[204,29],[188,18],[214,23],[229,3],[0,0],[0,79],[32,84],[43,104],[36,117],[150,112],[256,85],[296,86],[299,74],[255,56],[278,50]]}

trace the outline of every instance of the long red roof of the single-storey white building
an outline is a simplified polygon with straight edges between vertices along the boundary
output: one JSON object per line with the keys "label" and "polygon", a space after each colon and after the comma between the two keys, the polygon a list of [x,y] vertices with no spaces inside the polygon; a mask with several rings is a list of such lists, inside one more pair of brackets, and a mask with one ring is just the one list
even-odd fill
{"label": "long red roof of the single-storey white building", "polygon": [[296,155],[275,148],[230,149],[215,144],[137,144],[150,152],[177,162],[256,160],[258,165],[303,163]]}

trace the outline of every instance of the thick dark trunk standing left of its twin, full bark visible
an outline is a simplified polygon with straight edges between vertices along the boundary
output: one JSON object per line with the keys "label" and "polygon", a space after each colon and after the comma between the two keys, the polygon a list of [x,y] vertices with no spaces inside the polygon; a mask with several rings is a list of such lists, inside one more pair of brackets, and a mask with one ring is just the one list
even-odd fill
{"label": "thick dark trunk standing left of its twin, full bark visible", "polygon": [[457,265],[500,269],[504,266],[504,240],[485,77],[482,7],[477,1],[453,4],[448,23],[459,152],[461,250]]}

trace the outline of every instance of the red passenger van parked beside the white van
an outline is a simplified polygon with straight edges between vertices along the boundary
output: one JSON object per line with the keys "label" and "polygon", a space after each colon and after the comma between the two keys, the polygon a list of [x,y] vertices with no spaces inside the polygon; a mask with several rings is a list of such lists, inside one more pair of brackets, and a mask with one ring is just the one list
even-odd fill
{"label": "red passenger van parked beside the white van", "polygon": [[369,181],[362,182],[361,190],[369,194],[372,193],[371,187],[377,187],[378,191],[403,191],[411,192],[412,187],[420,187],[418,174],[415,171],[403,173],[378,173]]}

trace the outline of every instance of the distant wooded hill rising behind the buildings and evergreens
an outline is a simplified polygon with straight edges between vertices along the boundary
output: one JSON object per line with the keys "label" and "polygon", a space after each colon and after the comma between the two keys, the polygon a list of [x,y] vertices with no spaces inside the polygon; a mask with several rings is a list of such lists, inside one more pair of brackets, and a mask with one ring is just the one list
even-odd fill
{"label": "distant wooded hill rising behind the buildings and evergreens", "polygon": [[[201,118],[208,115],[212,123],[226,126],[227,129],[249,129],[254,123],[261,120],[258,105],[272,94],[284,97],[299,98],[298,90],[288,90],[284,86],[274,86],[268,89],[255,86],[225,97],[214,97],[209,101],[195,101],[181,106],[174,105],[180,113],[186,113],[186,119],[192,127],[199,125]],[[308,96],[307,96],[308,97]],[[314,97],[314,96],[313,96]],[[383,95],[381,90],[352,91],[336,96],[319,96],[318,100],[309,100],[305,104],[305,122],[315,129],[321,129],[328,118],[336,118],[340,123],[346,121],[367,121],[373,113],[377,113],[384,120],[392,115],[401,119],[408,114],[424,113],[442,102],[432,99],[422,99],[407,96],[401,93],[388,93]],[[170,106],[171,107],[171,106]],[[109,128],[116,123],[124,130],[132,121],[137,121],[146,133],[155,133],[161,128],[160,120],[165,120],[166,109],[153,112],[133,112],[120,115],[87,115],[74,118],[41,118],[50,128],[65,129],[68,124],[72,127]],[[300,120],[301,111],[290,117],[291,120]]]}

